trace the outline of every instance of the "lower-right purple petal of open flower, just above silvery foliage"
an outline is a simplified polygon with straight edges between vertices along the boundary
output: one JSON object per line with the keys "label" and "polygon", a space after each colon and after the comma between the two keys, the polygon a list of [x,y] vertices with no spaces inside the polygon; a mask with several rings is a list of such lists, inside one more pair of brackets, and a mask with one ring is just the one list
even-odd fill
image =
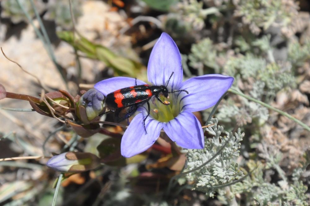
{"label": "lower-right purple petal of open flower, just above silvery foliage", "polygon": [[164,131],[181,147],[203,149],[205,146],[201,124],[191,112],[182,111],[164,125]]}

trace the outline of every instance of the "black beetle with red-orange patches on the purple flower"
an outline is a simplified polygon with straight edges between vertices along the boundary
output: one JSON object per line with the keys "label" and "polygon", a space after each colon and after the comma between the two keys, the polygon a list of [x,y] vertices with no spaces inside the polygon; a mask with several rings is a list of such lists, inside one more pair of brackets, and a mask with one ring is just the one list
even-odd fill
{"label": "black beetle with red-orange patches on the purple flower", "polygon": [[[174,72],[172,72],[170,78],[172,77],[173,74]],[[139,107],[147,103],[148,115],[143,119],[144,130],[145,133],[147,133],[145,128],[145,120],[150,115],[150,103],[148,101],[153,96],[155,96],[155,98],[158,99],[160,103],[169,105],[170,103],[168,101],[162,101],[159,98],[159,95],[163,95],[164,97],[168,98],[168,94],[173,92],[183,91],[188,94],[187,90],[177,90],[169,92],[167,86],[170,81],[170,78],[168,79],[166,86],[164,85],[149,86],[148,84],[137,85],[137,79],[135,79],[135,86],[122,88],[109,93],[105,100],[106,106],[110,111],[115,112],[114,116],[116,117],[117,122],[120,122],[122,120],[128,119],[137,111]],[[121,114],[122,112],[125,113],[124,116],[120,116],[122,115]]]}

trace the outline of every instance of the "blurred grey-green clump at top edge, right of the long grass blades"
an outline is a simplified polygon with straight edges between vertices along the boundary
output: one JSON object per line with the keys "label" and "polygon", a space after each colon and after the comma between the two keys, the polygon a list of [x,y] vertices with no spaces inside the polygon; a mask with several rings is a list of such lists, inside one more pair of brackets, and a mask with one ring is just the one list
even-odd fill
{"label": "blurred grey-green clump at top edge, right of the long grass blades", "polygon": [[[82,0],[71,1],[72,12],[75,20],[82,15],[81,5]],[[48,11],[44,15],[45,19],[55,20],[56,25],[64,28],[72,27],[72,18],[68,1],[53,0],[48,2]]]}

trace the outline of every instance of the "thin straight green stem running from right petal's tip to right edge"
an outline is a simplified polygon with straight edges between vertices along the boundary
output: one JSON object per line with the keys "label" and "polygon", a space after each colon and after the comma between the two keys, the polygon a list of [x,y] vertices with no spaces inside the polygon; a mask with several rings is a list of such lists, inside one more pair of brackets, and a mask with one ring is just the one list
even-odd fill
{"label": "thin straight green stem running from right petal's tip to right edge", "polygon": [[264,106],[264,107],[266,107],[266,108],[268,108],[268,109],[271,109],[271,110],[273,110],[273,111],[276,111],[276,112],[280,113],[281,115],[286,116],[286,117],[289,118],[290,120],[293,120],[294,122],[296,122],[297,124],[299,124],[299,125],[302,126],[303,128],[307,129],[308,131],[310,131],[310,127],[309,127],[308,125],[304,124],[302,121],[296,119],[295,117],[290,116],[290,115],[287,114],[285,111],[282,111],[282,110],[280,110],[280,109],[277,109],[277,108],[275,108],[275,107],[272,107],[272,106],[269,105],[269,104],[266,104],[266,103],[264,103],[264,102],[262,102],[262,101],[259,101],[259,100],[257,100],[257,99],[254,99],[254,98],[252,98],[252,97],[250,97],[250,96],[248,96],[248,95],[245,95],[245,94],[243,94],[243,93],[241,93],[241,92],[238,92],[237,90],[229,89],[228,91],[231,92],[231,93],[234,93],[234,94],[236,94],[236,95],[240,95],[241,97],[244,97],[244,98],[246,98],[246,99],[249,99],[249,100],[251,100],[251,101],[253,101],[253,102],[256,102],[256,103],[258,103],[258,104],[260,104],[260,105],[262,105],[262,106]]}

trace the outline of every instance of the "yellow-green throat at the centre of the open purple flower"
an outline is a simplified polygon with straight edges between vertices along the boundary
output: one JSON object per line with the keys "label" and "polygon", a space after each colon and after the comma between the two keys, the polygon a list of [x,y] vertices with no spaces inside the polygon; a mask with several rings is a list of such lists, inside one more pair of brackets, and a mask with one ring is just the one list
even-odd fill
{"label": "yellow-green throat at the centre of the open purple flower", "polygon": [[170,102],[169,105],[165,105],[158,101],[155,97],[150,100],[150,115],[160,122],[169,122],[173,120],[176,116],[179,115],[179,102],[176,101],[177,97],[175,94],[170,94],[168,99],[163,95],[160,95],[159,98],[164,102]]}

